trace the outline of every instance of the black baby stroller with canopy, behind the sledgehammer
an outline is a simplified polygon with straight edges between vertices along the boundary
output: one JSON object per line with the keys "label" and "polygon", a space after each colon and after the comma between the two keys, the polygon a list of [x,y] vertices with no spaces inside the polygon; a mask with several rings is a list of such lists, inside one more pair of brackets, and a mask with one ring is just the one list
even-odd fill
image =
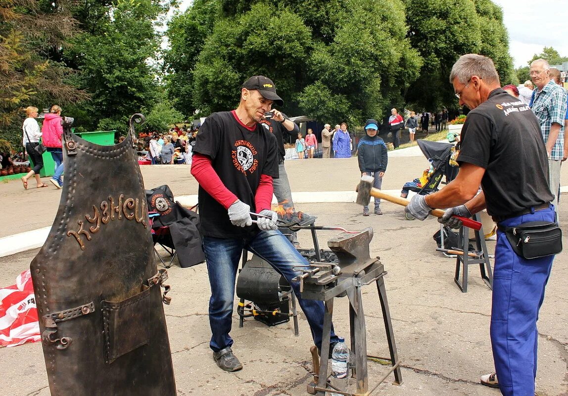
{"label": "black baby stroller with canopy, behind the sledgehammer", "polygon": [[[430,161],[430,174],[426,183],[421,183],[424,180],[420,180],[420,178],[405,183],[401,195],[403,197],[406,197],[404,194],[408,194],[408,191],[414,191],[420,195],[436,192],[444,176],[446,176],[445,183],[447,184],[456,177],[459,170],[457,166],[450,165],[450,157],[454,148],[453,144],[429,140],[417,140],[416,143],[424,156]],[[404,216],[407,220],[414,220],[414,216],[411,214],[405,213]]]}

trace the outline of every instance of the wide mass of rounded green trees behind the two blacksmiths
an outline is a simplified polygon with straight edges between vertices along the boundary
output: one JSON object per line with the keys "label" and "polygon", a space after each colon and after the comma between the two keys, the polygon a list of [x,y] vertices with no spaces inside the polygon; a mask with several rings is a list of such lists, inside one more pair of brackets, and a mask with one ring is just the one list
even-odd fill
{"label": "wide mass of rounded green trees behind the two blacksmiths", "polygon": [[168,36],[169,95],[186,115],[234,107],[254,74],[274,80],[289,113],[358,123],[457,107],[448,76],[465,53],[517,78],[490,0],[197,0]]}

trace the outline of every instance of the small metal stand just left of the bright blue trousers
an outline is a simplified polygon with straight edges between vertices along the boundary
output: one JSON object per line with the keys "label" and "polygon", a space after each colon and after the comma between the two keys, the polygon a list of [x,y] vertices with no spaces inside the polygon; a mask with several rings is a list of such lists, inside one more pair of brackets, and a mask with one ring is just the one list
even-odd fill
{"label": "small metal stand just left of the bright blue trousers", "polygon": [[[476,221],[481,221],[481,218],[479,218],[479,215],[477,213],[474,214],[473,218]],[[475,231],[475,248],[480,254],[479,258],[471,258],[469,255],[467,255],[467,252],[469,252],[469,228],[462,227],[460,229],[459,241],[462,247],[463,255],[458,255],[456,258],[456,273],[454,275],[454,282],[456,282],[458,288],[460,288],[462,293],[467,292],[467,267],[470,264],[479,264],[481,279],[483,279],[487,286],[492,290],[493,272],[491,271],[491,263],[489,262],[489,254],[487,252],[483,227],[479,231]],[[461,282],[460,269],[462,271]]]}

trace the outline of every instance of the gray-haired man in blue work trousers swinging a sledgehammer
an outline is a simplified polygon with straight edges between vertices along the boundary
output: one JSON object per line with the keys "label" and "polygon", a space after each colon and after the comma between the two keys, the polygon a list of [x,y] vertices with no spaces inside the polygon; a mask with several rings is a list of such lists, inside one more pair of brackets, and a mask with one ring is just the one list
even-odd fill
{"label": "gray-haired man in blue work trousers swinging a sledgehammer", "polygon": [[453,215],[470,217],[487,208],[497,222],[490,327],[495,373],[482,376],[481,383],[499,387],[504,396],[532,396],[536,321],[554,255],[526,259],[513,250],[504,230],[554,222],[540,125],[527,105],[511,100],[500,87],[490,58],[463,55],[450,82],[460,107],[471,109],[461,133],[460,171],[440,191],[412,197],[405,210],[424,220],[432,208],[449,208],[439,221],[460,228]]}

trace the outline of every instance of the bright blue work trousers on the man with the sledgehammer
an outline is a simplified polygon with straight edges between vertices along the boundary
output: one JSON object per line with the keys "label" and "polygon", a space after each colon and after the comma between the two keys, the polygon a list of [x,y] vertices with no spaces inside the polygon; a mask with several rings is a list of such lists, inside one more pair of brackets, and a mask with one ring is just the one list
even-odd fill
{"label": "bright blue work trousers on the man with the sledgehammer", "polygon": [[[512,227],[529,221],[554,221],[554,208],[509,218],[499,226]],[[527,260],[512,251],[503,231],[497,233],[491,348],[499,389],[504,396],[533,396],[537,366],[538,310],[554,256]]]}

